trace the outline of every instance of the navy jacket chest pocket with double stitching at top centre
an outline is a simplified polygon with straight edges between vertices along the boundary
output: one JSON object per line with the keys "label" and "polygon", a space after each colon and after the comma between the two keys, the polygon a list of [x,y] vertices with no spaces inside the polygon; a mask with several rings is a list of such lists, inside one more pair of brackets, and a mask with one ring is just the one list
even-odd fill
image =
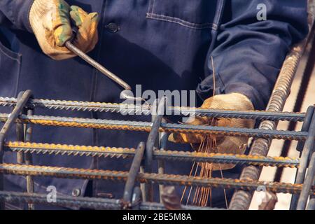
{"label": "navy jacket chest pocket with double stitching at top centre", "polygon": [[149,0],[146,18],[173,22],[191,29],[214,27],[216,1]]}

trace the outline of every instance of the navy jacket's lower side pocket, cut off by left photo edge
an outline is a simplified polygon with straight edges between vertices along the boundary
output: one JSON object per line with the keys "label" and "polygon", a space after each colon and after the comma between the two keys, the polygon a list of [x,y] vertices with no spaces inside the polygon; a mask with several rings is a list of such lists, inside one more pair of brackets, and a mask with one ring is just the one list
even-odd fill
{"label": "navy jacket's lower side pocket, cut off by left photo edge", "polygon": [[0,41],[0,96],[15,97],[22,55],[6,48]]}

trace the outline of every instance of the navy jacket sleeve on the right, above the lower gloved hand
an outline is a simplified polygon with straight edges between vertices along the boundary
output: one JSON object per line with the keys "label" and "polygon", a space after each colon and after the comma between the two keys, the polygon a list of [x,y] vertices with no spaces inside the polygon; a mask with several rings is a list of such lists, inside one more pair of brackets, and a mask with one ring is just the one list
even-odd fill
{"label": "navy jacket sleeve on the right, above the lower gloved hand", "polygon": [[[267,6],[267,20],[258,20],[260,3]],[[307,32],[306,0],[226,1],[197,93],[202,99],[213,94],[213,57],[216,92],[240,92],[255,109],[265,109],[290,46]]]}

